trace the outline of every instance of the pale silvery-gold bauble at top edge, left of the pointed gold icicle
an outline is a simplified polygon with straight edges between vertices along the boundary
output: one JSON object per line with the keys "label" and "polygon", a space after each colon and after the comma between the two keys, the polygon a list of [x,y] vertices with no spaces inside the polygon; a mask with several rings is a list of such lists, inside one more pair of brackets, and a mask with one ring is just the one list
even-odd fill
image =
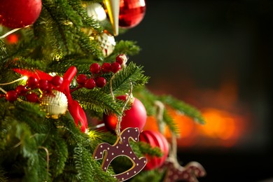
{"label": "pale silvery-gold bauble at top edge, left of the pointed gold icicle", "polygon": [[106,13],[100,3],[87,3],[86,4],[87,15],[95,20],[106,20]]}

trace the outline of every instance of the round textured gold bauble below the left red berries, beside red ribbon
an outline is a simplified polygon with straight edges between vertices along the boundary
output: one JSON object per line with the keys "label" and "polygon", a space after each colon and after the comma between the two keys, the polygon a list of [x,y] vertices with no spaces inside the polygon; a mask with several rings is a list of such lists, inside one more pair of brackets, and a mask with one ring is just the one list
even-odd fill
{"label": "round textured gold bauble below the left red berries, beside red ribbon", "polygon": [[67,111],[68,102],[63,92],[52,90],[51,94],[43,94],[40,106],[49,118],[57,119]]}

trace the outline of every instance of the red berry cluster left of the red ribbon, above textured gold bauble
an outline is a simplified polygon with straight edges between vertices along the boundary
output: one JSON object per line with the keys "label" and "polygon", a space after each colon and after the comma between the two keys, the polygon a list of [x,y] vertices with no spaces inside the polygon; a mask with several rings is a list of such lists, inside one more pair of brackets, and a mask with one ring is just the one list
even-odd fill
{"label": "red berry cluster left of the red ribbon, above textured gold bauble", "polygon": [[32,92],[34,89],[38,88],[45,93],[51,93],[54,87],[60,87],[62,85],[63,78],[61,76],[54,76],[52,80],[38,80],[33,76],[27,79],[26,85],[18,85],[15,90],[9,90],[3,96],[9,102],[13,102],[18,97],[26,97],[28,102],[38,102],[38,94]]}

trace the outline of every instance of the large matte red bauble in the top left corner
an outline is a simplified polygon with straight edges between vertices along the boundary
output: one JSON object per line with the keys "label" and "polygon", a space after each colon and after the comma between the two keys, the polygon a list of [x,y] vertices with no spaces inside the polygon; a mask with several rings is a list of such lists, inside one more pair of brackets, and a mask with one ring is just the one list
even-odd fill
{"label": "large matte red bauble in the top left corner", "polygon": [[41,0],[1,0],[0,23],[10,28],[33,24],[41,13]]}

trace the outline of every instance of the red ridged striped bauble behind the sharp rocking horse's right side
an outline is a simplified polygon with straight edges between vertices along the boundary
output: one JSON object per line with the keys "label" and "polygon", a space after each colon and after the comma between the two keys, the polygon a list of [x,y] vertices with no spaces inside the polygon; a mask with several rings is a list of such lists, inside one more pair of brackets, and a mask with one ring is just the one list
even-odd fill
{"label": "red ridged striped bauble behind the sharp rocking horse's right side", "polygon": [[153,130],[144,130],[139,134],[139,141],[144,141],[150,144],[152,147],[157,146],[163,153],[162,157],[146,156],[148,159],[146,167],[144,169],[151,170],[160,167],[165,162],[169,153],[169,144],[167,139],[160,133]]}

